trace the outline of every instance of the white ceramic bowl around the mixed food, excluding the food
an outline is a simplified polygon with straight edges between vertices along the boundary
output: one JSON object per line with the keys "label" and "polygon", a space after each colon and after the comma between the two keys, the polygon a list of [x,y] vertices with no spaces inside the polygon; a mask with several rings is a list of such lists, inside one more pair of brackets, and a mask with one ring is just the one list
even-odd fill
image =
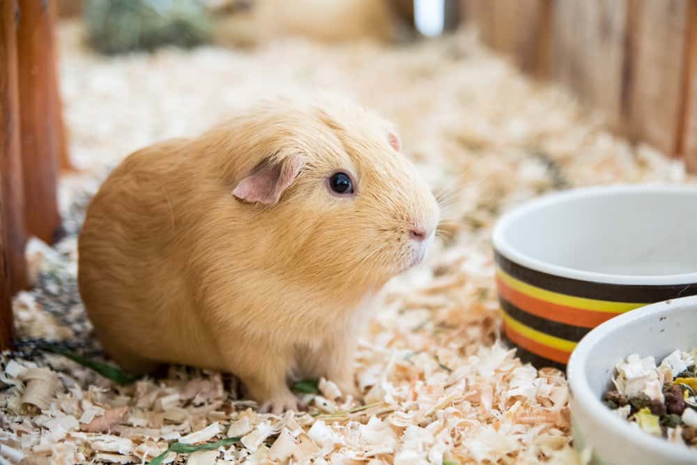
{"label": "white ceramic bowl around the mixed food, excluding the food", "polygon": [[697,464],[697,450],[651,436],[601,402],[615,364],[631,353],[661,360],[697,346],[697,296],[668,300],[620,315],[583,337],[569,360],[574,447],[592,450],[592,464]]}

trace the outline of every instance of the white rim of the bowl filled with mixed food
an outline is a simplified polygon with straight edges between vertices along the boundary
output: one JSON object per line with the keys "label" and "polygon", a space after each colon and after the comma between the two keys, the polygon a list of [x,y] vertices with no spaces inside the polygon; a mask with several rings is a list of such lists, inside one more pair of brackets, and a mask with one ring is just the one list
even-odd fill
{"label": "white rim of the bowl filled with mixed food", "polygon": [[[676,307],[694,307],[694,309],[697,310],[697,296],[664,300],[663,302],[646,305],[645,307],[631,310],[631,312],[621,314],[618,317],[609,319],[601,325],[596,326],[576,345],[576,348],[572,351],[571,358],[569,358],[569,363],[567,363],[566,371],[567,383],[572,398],[579,406],[582,406],[585,413],[592,418],[595,424],[606,427],[606,429],[611,431],[611,434],[617,436],[618,441],[636,443],[638,439],[645,448],[653,450],[666,458],[676,461],[687,461],[697,458],[697,450],[680,448],[679,445],[671,444],[665,439],[657,438],[650,434],[641,434],[637,436],[636,428],[632,427],[627,420],[623,420],[612,413],[610,409],[602,404],[600,399],[593,393],[590,388],[590,383],[588,383],[588,379],[585,376],[585,365],[588,363],[588,353],[599,340],[604,339],[604,337],[607,337],[615,330],[631,321],[659,317],[662,314],[674,311]],[[627,353],[627,355],[629,355],[629,353]],[[645,356],[648,355],[650,354],[645,354]],[[608,379],[608,381],[610,380]]]}

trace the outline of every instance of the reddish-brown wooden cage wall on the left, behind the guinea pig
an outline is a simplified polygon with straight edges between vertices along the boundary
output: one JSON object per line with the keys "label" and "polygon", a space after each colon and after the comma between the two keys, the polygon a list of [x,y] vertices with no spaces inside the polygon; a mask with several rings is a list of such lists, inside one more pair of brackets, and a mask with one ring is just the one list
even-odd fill
{"label": "reddish-brown wooden cage wall on the left, behind the guinea pig", "polygon": [[56,181],[70,169],[56,68],[56,5],[0,1],[0,350],[13,333],[11,296],[25,289],[26,238],[61,235]]}

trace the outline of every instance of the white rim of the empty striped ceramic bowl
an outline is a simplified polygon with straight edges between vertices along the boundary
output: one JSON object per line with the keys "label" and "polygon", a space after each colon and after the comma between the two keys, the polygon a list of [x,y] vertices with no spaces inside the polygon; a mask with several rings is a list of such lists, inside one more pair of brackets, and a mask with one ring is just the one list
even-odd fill
{"label": "white rim of the empty striped ceramic bowl", "polygon": [[[695,195],[697,197],[697,185],[666,185],[662,183],[651,184],[611,184],[584,188],[574,188],[561,192],[553,192],[526,204],[517,206],[504,213],[493,228],[492,242],[494,249],[503,257],[516,264],[533,270],[541,271],[549,275],[567,277],[572,280],[587,282],[599,282],[603,284],[620,285],[646,285],[646,286],[670,286],[680,284],[697,283],[697,272],[680,273],[673,275],[619,275],[611,273],[596,273],[588,270],[580,270],[567,266],[551,264],[519,252],[506,238],[505,231],[510,224],[519,218],[528,215],[530,211],[537,211],[553,204],[560,204],[573,199],[599,197],[613,194],[634,194],[652,192],[662,194]],[[696,199],[697,201],[697,199]]]}

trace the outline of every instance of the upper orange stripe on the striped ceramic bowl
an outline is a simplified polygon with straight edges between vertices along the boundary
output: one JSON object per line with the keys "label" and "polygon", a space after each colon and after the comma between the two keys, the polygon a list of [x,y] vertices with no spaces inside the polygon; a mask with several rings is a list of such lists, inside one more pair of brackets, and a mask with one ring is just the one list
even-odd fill
{"label": "upper orange stripe on the striped ceramic bowl", "polygon": [[583,328],[595,328],[600,323],[617,316],[615,313],[582,310],[528,296],[520,291],[516,291],[516,289],[503,282],[498,276],[496,276],[496,284],[498,285],[499,294],[519,309],[552,321],[583,326]]}

